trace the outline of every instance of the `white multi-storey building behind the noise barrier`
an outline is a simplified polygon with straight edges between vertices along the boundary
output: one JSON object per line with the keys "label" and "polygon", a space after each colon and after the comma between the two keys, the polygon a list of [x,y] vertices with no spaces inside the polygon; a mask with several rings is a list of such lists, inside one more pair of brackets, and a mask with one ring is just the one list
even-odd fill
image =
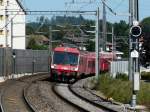
{"label": "white multi-storey building behind the noise barrier", "polygon": [[0,0],[1,47],[26,48],[25,14],[26,12],[19,0]]}

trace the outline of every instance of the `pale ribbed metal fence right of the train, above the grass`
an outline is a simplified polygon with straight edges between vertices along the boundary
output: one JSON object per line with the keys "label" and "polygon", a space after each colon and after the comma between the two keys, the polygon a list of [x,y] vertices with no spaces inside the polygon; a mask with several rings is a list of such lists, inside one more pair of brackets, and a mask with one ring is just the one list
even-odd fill
{"label": "pale ribbed metal fence right of the train, above the grass", "polygon": [[115,60],[110,64],[110,74],[116,77],[117,73],[128,74],[128,61],[126,60]]}

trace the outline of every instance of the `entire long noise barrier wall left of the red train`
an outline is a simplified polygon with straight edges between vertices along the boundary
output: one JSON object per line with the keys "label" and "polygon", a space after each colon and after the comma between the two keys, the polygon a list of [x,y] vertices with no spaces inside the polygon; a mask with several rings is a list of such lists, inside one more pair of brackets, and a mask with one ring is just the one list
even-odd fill
{"label": "entire long noise barrier wall left of the red train", "polygon": [[47,50],[11,50],[0,48],[0,76],[48,72]]}

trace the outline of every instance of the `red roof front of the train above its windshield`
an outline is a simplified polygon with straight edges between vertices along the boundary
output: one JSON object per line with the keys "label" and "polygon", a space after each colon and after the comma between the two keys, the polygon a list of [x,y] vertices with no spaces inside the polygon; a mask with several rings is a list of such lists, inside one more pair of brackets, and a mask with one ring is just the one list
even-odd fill
{"label": "red roof front of the train above its windshield", "polygon": [[56,47],[54,51],[59,51],[59,52],[71,52],[71,53],[80,53],[77,48],[71,48],[71,47]]}

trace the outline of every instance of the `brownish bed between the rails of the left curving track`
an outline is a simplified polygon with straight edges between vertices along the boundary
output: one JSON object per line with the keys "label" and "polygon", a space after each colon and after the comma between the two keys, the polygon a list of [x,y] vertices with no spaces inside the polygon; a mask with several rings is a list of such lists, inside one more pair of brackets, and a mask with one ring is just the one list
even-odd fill
{"label": "brownish bed between the rails of the left curving track", "polygon": [[48,78],[47,74],[25,76],[23,78],[8,80],[0,85],[2,112],[32,112],[23,96],[23,90],[30,83]]}

